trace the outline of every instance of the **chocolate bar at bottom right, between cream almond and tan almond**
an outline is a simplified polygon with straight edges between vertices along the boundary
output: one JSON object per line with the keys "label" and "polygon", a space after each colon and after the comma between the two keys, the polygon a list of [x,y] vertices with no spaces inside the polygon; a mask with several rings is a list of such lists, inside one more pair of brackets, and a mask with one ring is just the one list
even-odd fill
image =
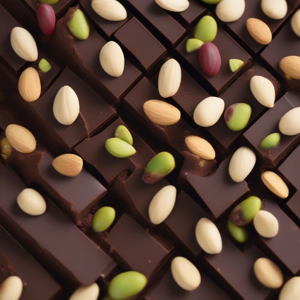
{"label": "chocolate bar at bottom right, between cream almond and tan almond", "polygon": [[207,264],[214,269],[214,278],[224,280],[234,296],[233,299],[263,300],[271,289],[263,286],[255,277],[253,265],[256,259],[264,257],[256,247],[241,252],[225,235],[222,237],[222,251],[219,254],[205,254]]}

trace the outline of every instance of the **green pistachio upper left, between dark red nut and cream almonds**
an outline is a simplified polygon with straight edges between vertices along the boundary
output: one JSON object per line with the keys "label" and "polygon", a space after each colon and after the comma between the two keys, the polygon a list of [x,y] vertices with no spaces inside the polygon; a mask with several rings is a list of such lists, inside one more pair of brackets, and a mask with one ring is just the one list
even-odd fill
{"label": "green pistachio upper left, between dark red nut and cream almonds", "polygon": [[86,40],[90,34],[90,26],[82,10],[77,9],[73,13],[70,20],[67,21],[67,26],[78,40]]}

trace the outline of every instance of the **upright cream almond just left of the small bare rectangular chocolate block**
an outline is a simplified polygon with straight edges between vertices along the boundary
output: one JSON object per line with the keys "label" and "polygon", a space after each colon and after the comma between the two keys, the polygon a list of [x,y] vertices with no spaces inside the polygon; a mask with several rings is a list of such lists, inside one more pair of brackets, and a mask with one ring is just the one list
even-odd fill
{"label": "upright cream almond just left of the small bare rectangular chocolate block", "polygon": [[103,70],[113,77],[119,77],[124,71],[124,54],[121,47],[114,41],[106,43],[99,54]]}

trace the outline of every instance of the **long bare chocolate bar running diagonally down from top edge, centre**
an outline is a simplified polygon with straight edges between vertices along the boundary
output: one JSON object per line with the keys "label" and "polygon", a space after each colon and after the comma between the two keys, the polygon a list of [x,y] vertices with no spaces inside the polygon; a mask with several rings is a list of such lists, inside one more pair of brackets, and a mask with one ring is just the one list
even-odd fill
{"label": "long bare chocolate bar running diagonally down from top edge, centre", "polygon": [[164,45],[174,48],[185,29],[169,13],[152,0],[125,0],[140,15],[145,26]]}

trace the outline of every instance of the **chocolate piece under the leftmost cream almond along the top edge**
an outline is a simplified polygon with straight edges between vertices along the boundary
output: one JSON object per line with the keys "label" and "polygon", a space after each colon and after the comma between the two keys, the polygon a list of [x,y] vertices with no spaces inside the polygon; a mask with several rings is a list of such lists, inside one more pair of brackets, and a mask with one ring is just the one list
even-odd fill
{"label": "chocolate piece under the leftmost cream almond along the top edge", "polygon": [[96,24],[96,28],[99,28],[107,38],[110,38],[111,35],[116,32],[116,30],[122,27],[131,18],[131,13],[127,11],[126,19],[122,21],[109,21],[99,16],[98,13],[93,10],[93,8],[91,7],[91,0],[79,0],[79,3],[85,13]]}

